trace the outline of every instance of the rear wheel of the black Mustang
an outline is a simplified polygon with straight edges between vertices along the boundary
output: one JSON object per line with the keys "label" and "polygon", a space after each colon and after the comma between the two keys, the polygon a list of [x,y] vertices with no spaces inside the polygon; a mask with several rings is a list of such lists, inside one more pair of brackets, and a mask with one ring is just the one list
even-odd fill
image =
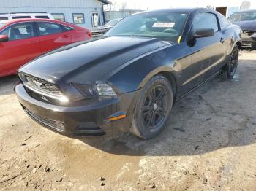
{"label": "rear wheel of the black Mustang", "polygon": [[238,45],[235,45],[232,52],[230,53],[230,58],[226,65],[222,69],[222,78],[223,79],[232,79],[236,74],[236,69],[238,66],[238,57],[239,57],[239,48]]}

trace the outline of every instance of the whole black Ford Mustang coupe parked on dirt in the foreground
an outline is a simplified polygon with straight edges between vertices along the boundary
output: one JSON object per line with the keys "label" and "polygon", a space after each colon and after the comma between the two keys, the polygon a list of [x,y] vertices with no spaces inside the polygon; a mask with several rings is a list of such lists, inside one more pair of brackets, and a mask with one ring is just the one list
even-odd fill
{"label": "whole black Ford Mustang coupe parked on dirt in the foreground", "polygon": [[178,98],[220,72],[233,77],[240,31],[210,9],[141,12],[23,66],[15,92],[32,119],[65,136],[148,139]]}

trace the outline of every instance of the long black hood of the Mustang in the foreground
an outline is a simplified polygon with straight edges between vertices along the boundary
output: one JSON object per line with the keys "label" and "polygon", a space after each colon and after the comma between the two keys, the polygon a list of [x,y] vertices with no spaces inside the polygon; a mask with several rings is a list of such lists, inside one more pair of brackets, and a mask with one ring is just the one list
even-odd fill
{"label": "long black hood of the Mustang in the foreground", "polygon": [[95,82],[146,52],[166,46],[159,39],[111,36],[53,50],[19,71],[50,82]]}

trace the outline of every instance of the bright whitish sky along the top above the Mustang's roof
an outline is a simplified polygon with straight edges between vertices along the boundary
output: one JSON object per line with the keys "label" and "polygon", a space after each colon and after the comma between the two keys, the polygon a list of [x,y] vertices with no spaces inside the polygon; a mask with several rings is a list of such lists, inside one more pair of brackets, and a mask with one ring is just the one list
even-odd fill
{"label": "bright whitish sky along the top above the Mustang's roof", "polygon": [[[116,8],[121,8],[124,3],[127,9],[162,9],[170,7],[236,7],[242,0],[110,0],[116,1]],[[256,9],[256,0],[251,0],[251,9]]]}

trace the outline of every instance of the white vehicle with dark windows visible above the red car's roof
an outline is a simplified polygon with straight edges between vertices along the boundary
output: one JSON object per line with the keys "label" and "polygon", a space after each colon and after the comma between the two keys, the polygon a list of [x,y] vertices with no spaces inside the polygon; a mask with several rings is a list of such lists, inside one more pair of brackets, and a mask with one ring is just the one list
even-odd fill
{"label": "white vehicle with dark windows visible above the red car's roof", "polygon": [[0,20],[20,19],[20,18],[45,18],[54,19],[53,15],[47,12],[11,12],[8,14],[0,14]]}

